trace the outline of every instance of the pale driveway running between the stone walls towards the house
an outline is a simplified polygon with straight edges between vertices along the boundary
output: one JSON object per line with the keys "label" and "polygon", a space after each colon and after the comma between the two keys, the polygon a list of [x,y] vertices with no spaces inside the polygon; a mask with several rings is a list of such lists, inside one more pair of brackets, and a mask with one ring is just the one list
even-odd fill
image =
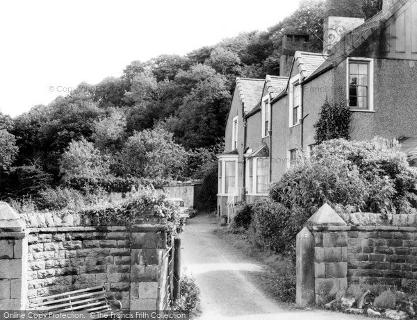
{"label": "pale driveway running between the stone walls towards the house", "polygon": [[254,273],[263,272],[265,266],[213,234],[215,228],[218,228],[218,219],[204,214],[189,219],[181,235],[184,272],[195,277],[202,292],[202,314],[196,319],[369,319],[333,312],[284,309],[256,285]]}

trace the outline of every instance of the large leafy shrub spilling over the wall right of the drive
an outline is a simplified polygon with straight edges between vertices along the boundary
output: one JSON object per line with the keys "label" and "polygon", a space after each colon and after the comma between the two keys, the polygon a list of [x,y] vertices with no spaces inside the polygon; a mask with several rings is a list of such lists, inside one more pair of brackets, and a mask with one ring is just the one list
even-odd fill
{"label": "large leafy shrub spilling over the wall right of the drive", "polygon": [[384,140],[331,140],[313,151],[270,190],[273,201],[303,212],[300,223],[327,202],[357,211],[415,212],[417,170]]}

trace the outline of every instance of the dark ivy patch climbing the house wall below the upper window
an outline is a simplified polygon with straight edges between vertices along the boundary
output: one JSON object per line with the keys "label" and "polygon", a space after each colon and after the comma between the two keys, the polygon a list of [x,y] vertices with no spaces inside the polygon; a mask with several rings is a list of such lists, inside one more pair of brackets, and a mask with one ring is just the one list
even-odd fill
{"label": "dark ivy patch climbing the house wall below the upper window", "polygon": [[317,144],[332,139],[350,140],[352,112],[350,112],[350,108],[345,99],[341,99],[338,103],[335,103],[329,101],[326,97],[319,116],[320,118],[314,125],[314,128],[316,128],[314,139]]}

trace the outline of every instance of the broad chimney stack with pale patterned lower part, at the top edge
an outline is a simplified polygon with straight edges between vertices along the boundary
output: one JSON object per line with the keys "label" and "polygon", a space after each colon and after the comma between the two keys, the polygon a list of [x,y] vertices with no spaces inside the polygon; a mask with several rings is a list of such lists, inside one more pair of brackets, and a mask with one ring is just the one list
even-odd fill
{"label": "broad chimney stack with pale patterned lower part, at the top edge", "polygon": [[329,53],[345,33],[365,22],[363,0],[327,0],[326,6],[323,53]]}

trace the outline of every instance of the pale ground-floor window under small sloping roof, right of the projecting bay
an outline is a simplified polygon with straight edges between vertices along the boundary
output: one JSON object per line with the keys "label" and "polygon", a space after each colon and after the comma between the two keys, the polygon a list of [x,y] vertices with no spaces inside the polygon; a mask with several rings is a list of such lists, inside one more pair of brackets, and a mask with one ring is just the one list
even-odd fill
{"label": "pale ground-floor window under small sloping roof, right of the projecting bay", "polygon": [[269,162],[268,158],[249,158],[246,167],[247,194],[268,194]]}

